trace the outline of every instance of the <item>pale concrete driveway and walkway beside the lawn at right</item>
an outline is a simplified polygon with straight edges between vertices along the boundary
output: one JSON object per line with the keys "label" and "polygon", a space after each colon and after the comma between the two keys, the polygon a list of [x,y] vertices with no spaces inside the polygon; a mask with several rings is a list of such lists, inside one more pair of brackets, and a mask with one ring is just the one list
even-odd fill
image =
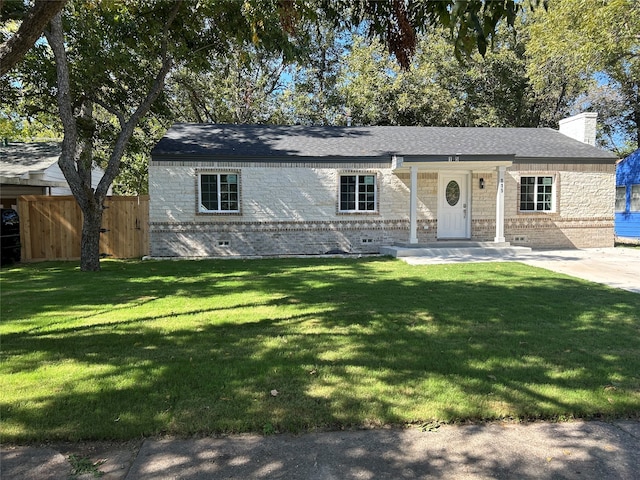
{"label": "pale concrete driveway and walkway beside the lawn at right", "polygon": [[403,257],[412,265],[460,262],[522,262],[558,273],[640,293],[640,248],[533,250],[507,255]]}

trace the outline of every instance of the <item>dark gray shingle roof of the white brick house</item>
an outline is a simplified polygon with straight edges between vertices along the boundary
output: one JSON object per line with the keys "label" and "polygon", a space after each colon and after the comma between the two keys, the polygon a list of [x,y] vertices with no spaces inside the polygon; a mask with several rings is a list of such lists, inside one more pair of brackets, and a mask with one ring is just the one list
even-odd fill
{"label": "dark gray shingle roof of the white brick house", "polygon": [[152,151],[165,157],[364,159],[511,155],[516,159],[607,160],[611,152],[549,128],[307,127],[176,124]]}

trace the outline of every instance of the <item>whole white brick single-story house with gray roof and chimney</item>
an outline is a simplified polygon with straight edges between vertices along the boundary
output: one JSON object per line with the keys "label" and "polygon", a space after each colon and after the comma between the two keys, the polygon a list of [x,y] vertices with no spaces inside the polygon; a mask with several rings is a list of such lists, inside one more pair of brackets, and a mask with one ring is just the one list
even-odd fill
{"label": "whole white brick single-story house with gray roof and chimney", "polygon": [[176,124],[151,153],[150,254],[613,246],[616,158],[595,129]]}

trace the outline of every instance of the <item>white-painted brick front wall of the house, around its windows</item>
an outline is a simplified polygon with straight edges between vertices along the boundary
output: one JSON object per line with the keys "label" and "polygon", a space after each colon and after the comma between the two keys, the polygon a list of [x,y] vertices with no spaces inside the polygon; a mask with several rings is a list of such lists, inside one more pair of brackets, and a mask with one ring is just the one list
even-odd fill
{"label": "white-painted brick front wall of the house, around its windows", "polygon": [[[553,167],[551,169],[550,167]],[[609,166],[606,166],[609,167]],[[580,169],[582,171],[575,171]],[[240,172],[240,214],[200,214],[198,172]],[[341,173],[376,173],[378,211],[338,212]],[[521,175],[555,175],[557,211],[518,211]],[[479,188],[479,179],[484,189]],[[471,175],[473,240],[495,236],[495,171]],[[388,163],[152,162],[151,255],[226,256],[377,253],[409,238],[409,174]],[[614,167],[514,165],[505,176],[505,237],[533,247],[613,245]],[[418,241],[437,239],[438,174],[418,174]]]}

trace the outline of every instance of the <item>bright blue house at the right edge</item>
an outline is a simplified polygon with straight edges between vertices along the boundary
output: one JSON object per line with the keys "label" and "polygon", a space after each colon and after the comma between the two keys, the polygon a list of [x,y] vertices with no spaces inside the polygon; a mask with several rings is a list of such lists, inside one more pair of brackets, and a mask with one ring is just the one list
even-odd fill
{"label": "bright blue house at the right edge", "polygon": [[621,242],[640,243],[640,149],[616,165],[615,234]]}

